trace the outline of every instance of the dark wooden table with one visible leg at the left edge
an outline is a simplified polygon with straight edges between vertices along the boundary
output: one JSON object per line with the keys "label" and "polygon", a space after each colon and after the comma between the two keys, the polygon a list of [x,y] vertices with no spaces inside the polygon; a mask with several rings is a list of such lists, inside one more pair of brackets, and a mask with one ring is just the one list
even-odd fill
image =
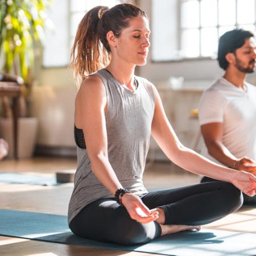
{"label": "dark wooden table with one visible leg at the left edge", "polygon": [[9,97],[13,99],[13,138],[14,138],[14,158],[18,159],[18,115],[19,115],[19,97],[21,88],[17,82],[0,82],[0,97]]}

